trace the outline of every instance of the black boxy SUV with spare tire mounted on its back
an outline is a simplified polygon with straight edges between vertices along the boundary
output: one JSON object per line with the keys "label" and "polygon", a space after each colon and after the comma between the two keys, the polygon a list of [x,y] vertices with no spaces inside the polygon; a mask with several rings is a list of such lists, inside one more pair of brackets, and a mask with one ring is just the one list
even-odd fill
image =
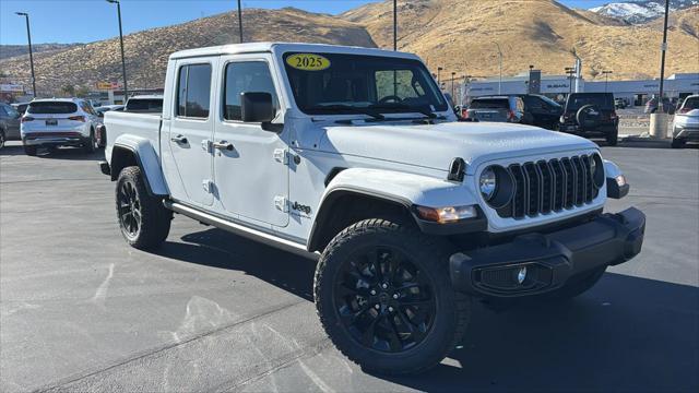
{"label": "black boxy SUV with spare tire mounted on its back", "polygon": [[619,118],[614,110],[612,93],[572,93],[568,96],[560,117],[560,131],[593,138],[604,136],[616,146]]}

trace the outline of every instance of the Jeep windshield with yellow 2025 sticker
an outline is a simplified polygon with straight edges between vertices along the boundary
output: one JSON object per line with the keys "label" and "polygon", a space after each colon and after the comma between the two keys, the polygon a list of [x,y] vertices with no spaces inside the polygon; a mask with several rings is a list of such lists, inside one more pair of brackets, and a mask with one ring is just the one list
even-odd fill
{"label": "Jeep windshield with yellow 2025 sticker", "polygon": [[425,112],[448,109],[417,60],[344,53],[285,53],[299,109],[309,115]]}

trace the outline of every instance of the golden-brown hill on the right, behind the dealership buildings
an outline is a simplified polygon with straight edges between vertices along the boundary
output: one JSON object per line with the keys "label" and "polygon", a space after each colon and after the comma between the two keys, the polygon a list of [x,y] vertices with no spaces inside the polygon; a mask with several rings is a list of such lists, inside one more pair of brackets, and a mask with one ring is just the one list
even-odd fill
{"label": "golden-brown hill on the right, behind the dealership buildings", "polygon": [[[340,16],[365,25],[380,47],[392,47],[391,0]],[[418,53],[433,70],[443,67],[446,74],[458,75],[497,75],[495,43],[505,52],[505,75],[529,64],[561,74],[573,63],[574,48],[588,79],[602,70],[613,70],[614,79],[655,76],[662,40],[649,26],[612,23],[553,0],[401,0],[399,37],[399,49]],[[698,72],[697,37],[675,29],[668,40],[667,74]]]}

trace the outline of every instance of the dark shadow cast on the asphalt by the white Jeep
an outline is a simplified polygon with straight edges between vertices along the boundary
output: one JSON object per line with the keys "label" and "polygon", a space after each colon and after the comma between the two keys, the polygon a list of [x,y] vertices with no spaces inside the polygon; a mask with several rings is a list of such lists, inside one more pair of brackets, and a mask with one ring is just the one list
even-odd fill
{"label": "dark shadow cast on the asphalt by the white Jeep", "polygon": [[[316,262],[206,229],[166,242],[175,260],[244,271],[312,301]],[[606,273],[568,302],[474,302],[466,337],[441,365],[375,376],[419,391],[699,391],[699,288]]]}

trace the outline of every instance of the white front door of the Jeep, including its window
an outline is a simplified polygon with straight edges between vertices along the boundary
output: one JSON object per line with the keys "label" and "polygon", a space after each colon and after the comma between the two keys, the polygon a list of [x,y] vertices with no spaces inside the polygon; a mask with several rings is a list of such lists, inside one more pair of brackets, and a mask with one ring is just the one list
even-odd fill
{"label": "white front door of the Jeep, including its window", "polygon": [[270,93],[280,112],[280,94],[269,55],[223,58],[221,121],[214,132],[216,193],[226,213],[253,225],[288,224],[287,132],[265,131],[240,116],[240,93]]}

